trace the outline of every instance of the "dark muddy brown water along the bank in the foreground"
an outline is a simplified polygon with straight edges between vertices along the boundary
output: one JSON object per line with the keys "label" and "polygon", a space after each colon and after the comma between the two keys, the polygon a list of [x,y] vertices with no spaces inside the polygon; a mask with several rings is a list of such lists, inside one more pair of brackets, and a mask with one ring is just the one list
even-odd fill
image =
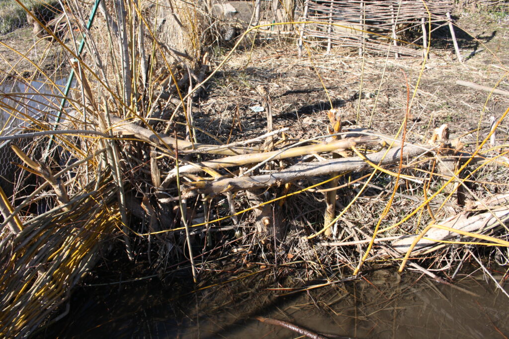
{"label": "dark muddy brown water along the bank in the foreground", "polygon": [[[493,273],[495,275],[502,272]],[[500,277],[499,277],[500,278]],[[474,276],[455,287],[420,274],[380,269],[357,281],[281,296],[270,275],[192,292],[171,281],[83,286],[70,312],[38,337],[296,338],[256,316],[291,322],[326,337],[495,338],[509,334],[507,297]],[[251,285],[257,281],[255,289]],[[266,284],[260,284],[265,281]],[[308,286],[325,281],[310,282]],[[202,287],[207,284],[203,284]],[[279,286],[280,287],[280,286]]]}

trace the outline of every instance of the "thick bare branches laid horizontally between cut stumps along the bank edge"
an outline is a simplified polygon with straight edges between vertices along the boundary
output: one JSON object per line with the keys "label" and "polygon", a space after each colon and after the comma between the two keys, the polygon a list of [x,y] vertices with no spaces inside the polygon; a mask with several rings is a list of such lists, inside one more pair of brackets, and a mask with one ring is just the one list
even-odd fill
{"label": "thick bare branches laid horizontally between cut stumps along the bank edge", "polygon": [[[429,251],[443,247],[443,244],[436,246],[437,241],[446,241],[458,236],[480,238],[499,245],[509,245],[509,242],[505,240],[486,235],[501,228],[506,229],[505,221],[509,217],[507,194],[492,197],[486,201],[477,199],[474,207],[469,206],[465,212],[453,215],[448,219],[444,218],[442,221],[435,218],[436,212],[433,212],[433,208],[429,207],[430,202],[435,202],[434,198],[441,193],[447,194],[442,205],[447,204],[447,200],[451,197],[454,197],[458,204],[464,205],[462,198],[465,194],[464,190],[474,194],[464,183],[471,174],[461,177],[469,164],[470,166],[480,164],[480,167],[483,167],[494,161],[496,166],[507,166],[506,161],[487,160],[484,157],[476,157],[475,154],[462,152],[463,146],[458,140],[452,143],[449,141],[447,125],[436,129],[427,145],[418,145],[395,140],[370,130],[341,131],[340,117],[337,116],[337,113],[331,110],[328,115],[331,120],[331,128],[329,128],[331,134],[298,142],[284,137],[278,139],[277,136],[279,134],[284,136],[285,132],[280,130],[269,131],[259,138],[227,145],[204,145],[153,134],[143,127],[118,118],[112,118],[112,122],[115,124],[112,129],[118,133],[133,135],[138,139],[150,142],[157,149],[151,153],[150,173],[158,203],[151,209],[156,210],[157,206],[164,206],[169,201],[178,201],[183,213],[181,213],[181,224],[175,225],[174,230],[185,229],[188,236],[191,231],[196,234],[196,229],[204,233],[208,232],[214,228],[214,222],[229,218],[232,219],[229,229],[238,229],[237,215],[247,210],[253,210],[253,220],[256,223],[257,232],[262,234],[262,237],[274,236],[281,239],[286,230],[285,225],[281,223],[284,217],[281,215],[281,203],[278,202],[325,184],[328,184],[330,188],[321,190],[324,192],[325,200],[323,227],[315,230],[316,233],[309,235],[308,239],[315,238],[322,233],[326,236],[332,235],[333,228],[336,228],[335,232],[337,232],[338,221],[342,220],[341,217],[356,199],[362,196],[370,181],[366,181],[362,190],[347,207],[340,213],[336,213],[338,189],[352,186],[356,181],[359,181],[355,179],[340,184],[340,178],[348,174],[361,179],[370,176],[371,179],[378,172],[381,175],[395,178],[394,192],[403,186],[403,183],[399,183],[400,181],[406,182],[406,185],[408,182],[413,182],[414,190],[426,192],[427,187],[429,189],[431,182],[434,181],[434,177],[441,178],[438,180],[440,187],[430,197],[425,195],[425,198],[421,198],[421,200],[412,197],[413,200],[421,201],[418,207],[407,218],[403,218],[394,225],[380,230],[376,229],[371,239],[341,242],[339,245],[370,243],[371,249],[373,243],[387,240],[386,238],[377,238],[379,234],[401,226],[418,211],[425,209],[429,210],[432,222],[420,231],[415,230],[418,233],[416,235],[409,236],[405,232],[403,234],[399,231],[394,232],[387,246],[391,250],[384,249],[383,254],[380,252],[379,255],[400,258],[402,254],[406,254],[408,258],[429,253]],[[270,121],[271,118],[268,117],[268,120]],[[318,141],[323,138],[327,138],[327,140],[325,142]],[[254,145],[262,141],[263,145]],[[161,155],[172,153],[176,157],[174,166],[161,170],[155,161],[158,153]],[[192,158],[189,155],[192,155]],[[216,158],[217,155],[222,157]],[[420,160],[416,160],[416,158]],[[192,159],[201,159],[201,161],[196,162]],[[420,165],[412,165],[415,162]],[[427,169],[429,175],[415,176],[415,171],[423,168]],[[433,168],[436,170],[434,171]],[[366,171],[368,173],[372,171],[371,175],[366,175]],[[324,180],[324,176],[329,178]],[[306,187],[305,182],[314,184]],[[281,190],[281,188],[283,189]],[[172,195],[171,192],[175,192],[175,189],[177,194]],[[279,192],[279,196],[269,194],[268,196],[277,197],[275,199],[265,198],[264,192],[274,193],[274,191]],[[245,192],[245,194],[241,195],[239,192]],[[246,196],[251,206],[238,211],[237,207],[241,203],[235,202],[234,194],[237,197]],[[214,203],[214,201],[222,199],[222,196],[227,198],[229,211],[225,215],[211,214],[207,206],[217,205],[218,203]],[[408,198],[407,195],[403,196]],[[475,195],[471,196],[471,198],[475,197]],[[392,198],[388,203],[389,207]],[[175,208],[176,206],[173,209]],[[186,216],[195,214],[196,211],[193,209],[196,208],[204,209],[201,214],[202,218],[188,219]],[[162,209],[170,210],[172,208]],[[438,210],[440,209],[438,208]],[[384,214],[380,217],[380,221],[383,219]],[[152,222],[153,220],[151,220],[151,228],[157,227],[156,233],[167,232],[162,225],[154,226]],[[485,235],[476,235],[472,232],[482,232]],[[426,238],[423,239],[425,235]],[[360,234],[360,237],[365,238],[365,234]],[[338,245],[338,243],[329,245]],[[369,251],[365,253],[366,256]],[[192,253],[189,255],[193,256]],[[359,268],[361,265],[362,262],[359,263]],[[403,267],[404,264],[401,269]]]}

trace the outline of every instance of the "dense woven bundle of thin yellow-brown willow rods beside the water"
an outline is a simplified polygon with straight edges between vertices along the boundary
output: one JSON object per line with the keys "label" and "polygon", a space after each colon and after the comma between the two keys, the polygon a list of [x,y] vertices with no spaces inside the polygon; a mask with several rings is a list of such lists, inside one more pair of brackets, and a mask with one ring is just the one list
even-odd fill
{"label": "dense woven bundle of thin yellow-brown willow rods beside the water", "polygon": [[[97,159],[90,157],[89,161]],[[87,165],[75,163],[54,175],[38,168],[49,181],[15,209],[10,207],[12,212],[4,222],[8,227],[3,228],[0,241],[0,333],[4,337],[27,336],[50,315],[53,321],[63,318],[70,305],[60,306],[69,298],[72,287],[94,267],[100,249],[121,228],[117,187],[107,172],[98,181],[82,182],[83,187],[73,193],[55,187],[55,194],[70,195],[60,196],[59,204],[48,206],[38,215],[18,217],[19,211],[44,204],[40,197],[46,186],[58,185],[56,180]]]}

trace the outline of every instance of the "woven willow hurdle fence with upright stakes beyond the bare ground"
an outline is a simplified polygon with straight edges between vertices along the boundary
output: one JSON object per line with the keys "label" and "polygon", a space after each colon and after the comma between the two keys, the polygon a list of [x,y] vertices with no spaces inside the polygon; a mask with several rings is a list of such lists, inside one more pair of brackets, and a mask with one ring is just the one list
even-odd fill
{"label": "woven willow hurdle fence with upright stakes beyond the bare ground", "polygon": [[[429,27],[448,25],[458,59],[459,49],[451,23],[453,5],[448,0],[305,0],[300,29],[299,53],[304,42],[327,47],[355,48],[359,53],[420,56],[416,47],[428,45]],[[335,24],[335,25],[332,25]],[[411,44],[398,43],[409,30],[418,29],[421,38]],[[389,45],[390,48],[389,48]]]}

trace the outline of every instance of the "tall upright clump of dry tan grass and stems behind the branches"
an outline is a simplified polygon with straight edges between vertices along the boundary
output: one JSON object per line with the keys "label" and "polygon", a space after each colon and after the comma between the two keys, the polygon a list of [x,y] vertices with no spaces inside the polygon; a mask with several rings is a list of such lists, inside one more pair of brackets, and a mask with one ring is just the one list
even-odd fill
{"label": "tall upright clump of dry tan grass and stems behind the branches", "polygon": [[[103,86],[123,91],[123,101],[136,102],[136,109],[148,118],[144,110],[156,109],[158,99],[175,96],[178,100],[177,88],[184,95],[190,83],[203,80],[206,52],[217,33],[217,19],[205,4],[180,0],[105,4],[99,6],[101,15],[93,29],[86,32],[92,41],[87,62],[94,74],[104,78]],[[77,3],[73,12],[83,11],[81,7]],[[125,32],[117,24],[122,17],[119,22],[125,25]],[[98,95],[104,90],[100,87],[93,88]],[[111,103],[118,104],[115,100]]]}

